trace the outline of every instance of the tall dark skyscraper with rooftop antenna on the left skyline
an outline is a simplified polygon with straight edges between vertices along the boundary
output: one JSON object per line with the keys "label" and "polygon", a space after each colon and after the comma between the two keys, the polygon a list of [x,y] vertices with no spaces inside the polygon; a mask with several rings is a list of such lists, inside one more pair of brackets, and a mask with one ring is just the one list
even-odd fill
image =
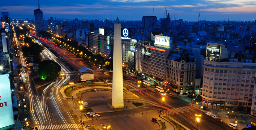
{"label": "tall dark skyscraper with rooftop antenna on the left skyline", "polygon": [[43,21],[43,12],[42,10],[40,10],[39,0],[38,0],[38,8],[34,10],[34,14],[35,14],[35,29],[37,34],[40,31],[46,31],[46,25],[44,24],[44,21]]}

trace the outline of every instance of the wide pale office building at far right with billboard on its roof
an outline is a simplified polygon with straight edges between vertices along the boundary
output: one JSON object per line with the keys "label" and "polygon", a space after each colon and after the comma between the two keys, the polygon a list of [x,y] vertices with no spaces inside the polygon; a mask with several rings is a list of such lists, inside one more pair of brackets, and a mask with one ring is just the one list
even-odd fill
{"label": "wide pale office building at far right with billboard on its roof", "polygon": [[[245,111],[252,105],[256,63],[238,61],[238,55],[223,44],[207,43],[202,87],[202,105],[214,109]],[[241,56],[242,57],[242,56]],[[244,56],[243,56],[244,57]]]}

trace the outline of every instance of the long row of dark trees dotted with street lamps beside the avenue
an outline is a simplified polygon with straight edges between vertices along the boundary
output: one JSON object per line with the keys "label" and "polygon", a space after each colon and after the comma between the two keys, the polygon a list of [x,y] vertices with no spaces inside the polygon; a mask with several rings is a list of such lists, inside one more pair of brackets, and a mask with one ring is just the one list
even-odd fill
{"label": "long row of dark trees dotted with street lamps beside the avenue", "polygon": [[112,70],[112,58],[105,59],[105,57],[99,54],[95,55],[93,51],[86,49],[85,47],[79,45],[77,42],[65,41],[63,38],[55,38],[54,42],[61,47],[67,48],[68,51],[77,57],[82,57],[84,61],[88,62],[90,65],[102,65],[103,68]]}

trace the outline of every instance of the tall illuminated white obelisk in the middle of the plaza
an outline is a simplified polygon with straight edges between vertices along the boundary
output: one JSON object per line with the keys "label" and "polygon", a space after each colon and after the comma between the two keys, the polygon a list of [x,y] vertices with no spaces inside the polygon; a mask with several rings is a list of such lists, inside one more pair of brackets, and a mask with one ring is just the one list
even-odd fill
{"label": "tall illuminated white obelisk in the middle of the plaza", "polygon": [[122,43],[121,43],[121,23],[116,18],[114,25],[114,52],[113,52],[113,87],[112,87],[112,107],[124,107],[123,94],[123,70],[122,70]]}

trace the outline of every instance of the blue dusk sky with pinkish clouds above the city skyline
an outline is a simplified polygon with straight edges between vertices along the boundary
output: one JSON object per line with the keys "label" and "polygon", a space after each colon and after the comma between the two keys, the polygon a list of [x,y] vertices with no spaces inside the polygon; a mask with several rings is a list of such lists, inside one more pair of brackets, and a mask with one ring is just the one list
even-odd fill
{"label": "blue dusk sky with pinkish clouds above the city skyline", "polygon": [[[141,20],[142,16],[164,17],[167,13],[174,20],[239,20],[256,19],[256,0],[40,0],[40,9],[44,19],[56,17],[62,19],[106,19]],[[10,18],[33,18],[37,9],[37,0],[4,0],[1,1],[1,12],[9,12]]]}

